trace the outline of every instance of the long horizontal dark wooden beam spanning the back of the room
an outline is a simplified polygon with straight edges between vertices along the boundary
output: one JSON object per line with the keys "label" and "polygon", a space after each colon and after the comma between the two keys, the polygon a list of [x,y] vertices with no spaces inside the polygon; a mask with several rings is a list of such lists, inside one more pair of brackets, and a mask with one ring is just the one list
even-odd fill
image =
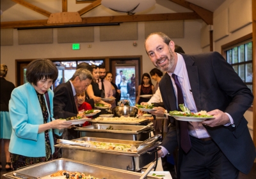
{"label": "long horizontal dark wooden beam spanning the back of the room", "polygon": [[13,22],[1,22],[1,29],[6,28],[21,28],[21,27],[44,27],[44,26],[65,26],[72,24],[108,24],[115,22],[145,22],[159,20],[191,20],[201,19],[194,12],[189,13],[162,13],[162,14],[147,14],[147,15],[117,15],[104,17],[83,17],[82,22],[62,23],[62,24],[47,24],[45,20],[22,20]]}

